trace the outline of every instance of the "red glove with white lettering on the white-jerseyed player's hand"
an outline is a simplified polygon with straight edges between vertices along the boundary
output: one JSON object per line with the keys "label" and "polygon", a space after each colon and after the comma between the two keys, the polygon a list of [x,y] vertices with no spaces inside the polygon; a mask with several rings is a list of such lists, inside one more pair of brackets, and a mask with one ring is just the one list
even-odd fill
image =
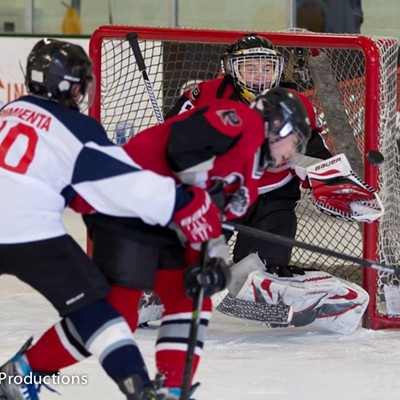
{"label": "red glove with white lettering on the white-jerseyed player's hand", "polygon": [[174,214],[174,222],[189,243],[200,243],[221,235],[221,211],[203,189],[191,187],[192,201]]}

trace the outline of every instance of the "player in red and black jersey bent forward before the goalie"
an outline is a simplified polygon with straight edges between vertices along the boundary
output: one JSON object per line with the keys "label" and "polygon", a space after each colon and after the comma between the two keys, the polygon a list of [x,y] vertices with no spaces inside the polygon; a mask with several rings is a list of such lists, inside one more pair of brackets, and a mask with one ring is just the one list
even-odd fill
{"label": "player in red and black jersey bent forward before the goalie", "polygon": [[[255,201],[264,169],[302,153],[310,131],[303,105],[285,89],[261,95],[252,107],[231,100],[213,102],[139,132],[124,149],[143,168],[172,177],[177,185],[190,185],[193,191],[198,187],[220,188],[219,192],[213,190],[215,201],[226,218],[237,218]],[[85,210],[79,199],[74,206]],[[198,246],[182,247],[175,230],[104,214],[86,215],[85,221],[93,240],[93,259],[112,285],[108,301],[133,332],[142,291],[154,289],[162,299],[165,312],[156,343],[156,364],[165,376],[167,393],[162,397],[159,392],[157,398],[178,399],[193,309],[191,297],[201,282],[206,298],[194,374],[211,317],[210,296],[227,284],[223,236],[209,240],[210,263],[200,272]],[[37,346],[64,354],[58,365],[73,363],[77,349],[75,343],[65,340],[71,337],[68,326],[53,329],[51,335],[53,339],[58,335],[58,344],[44,336]],[[48,368],[57,369],[57,362],[48,362]],[[133,384],[132,399],[147,399],[142,397],[140,377]]]}

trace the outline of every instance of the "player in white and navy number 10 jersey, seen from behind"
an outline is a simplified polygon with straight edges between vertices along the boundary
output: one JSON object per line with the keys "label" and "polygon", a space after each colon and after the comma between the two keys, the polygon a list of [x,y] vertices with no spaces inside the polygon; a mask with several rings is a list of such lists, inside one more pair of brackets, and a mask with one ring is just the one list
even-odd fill
{"label": "player in white and navy number 10 jersey, seen from behind", "polygon": [[[92,64],[80,46],[43,39],[27,61],[30,95],[0,110],[0,275],[16,276],[49,300],[76,333],[71,339],[99,359],[128,399],[137,397],[121,382],[138,374],[150,399],[152,383],[131,331],[104,299],[107,280],[67,234],[63,210],[78,193],[107,215],[162,226],[173,220],[189,242],[198,241],[197,218],[204,240],[219,236],[220,212],[203,190],[193,197],[173,179],[142,170],[81,114],[92,85]],[[57,354],[29,357],[28,348],[1,367],[9,378],[0,382],[2,400],[38,399],[32,380],[17,385],[12,376],[54,372],[46,358]]]}

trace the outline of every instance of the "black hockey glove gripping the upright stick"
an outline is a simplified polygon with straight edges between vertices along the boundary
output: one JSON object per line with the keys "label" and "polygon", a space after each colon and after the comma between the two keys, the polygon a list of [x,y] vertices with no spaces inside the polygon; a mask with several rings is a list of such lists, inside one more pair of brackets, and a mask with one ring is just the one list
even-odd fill
{"label": "black hockey glove gripping the upright stick", "polygon": [[186,295],[195,298],[200,288],[204,288],[204,297],[225,289],[231,280],[231,271],[222,258],[211,258],[207,265],[189,265],[185,272]]}

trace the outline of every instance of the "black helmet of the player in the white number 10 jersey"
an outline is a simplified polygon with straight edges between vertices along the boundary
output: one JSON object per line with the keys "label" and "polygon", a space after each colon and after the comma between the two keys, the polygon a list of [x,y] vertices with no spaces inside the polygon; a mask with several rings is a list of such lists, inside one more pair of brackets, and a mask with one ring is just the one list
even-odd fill
{"label": "black helmet of the player in the white number 10 jersey", "polygon": [[[57,39],[40,40],[30,52],[25,85],[33,95],[78,108],[93,81],[92,62],[81,46]],[[80,85],[79,100],[71,89]]]}

